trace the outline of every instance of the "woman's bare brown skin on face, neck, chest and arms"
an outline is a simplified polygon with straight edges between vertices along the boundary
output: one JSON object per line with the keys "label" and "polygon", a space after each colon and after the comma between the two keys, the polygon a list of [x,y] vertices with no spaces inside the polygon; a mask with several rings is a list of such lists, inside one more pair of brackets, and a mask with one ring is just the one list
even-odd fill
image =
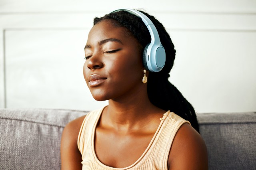
{"label": "woman's bare brown skin on face, neck, chest and arms", "polygon": [[[102,42],[110,38],[118,41]],[[152,105],[148,99],[147,85],[142,83],[144,67],[140,44],[127,34],[127,30],[112,26],[105,20],[91,29],[85,56],[88,59],[84,63],[84,78],[92,96],[98,101],[109,100],[96,127],[96,155],[107,166],[130,166],[146,150],[160,124],[159,118],[166,112]],[[91,86],[88,79],[94,74],[104,77],[104,81]],[[83,119],[80,117],[64,128],[61,140],[62,170],[82,169],[77,138]],[[188,124],[182,125],[174,138],[168,168],[208,168],[204,140]]]}

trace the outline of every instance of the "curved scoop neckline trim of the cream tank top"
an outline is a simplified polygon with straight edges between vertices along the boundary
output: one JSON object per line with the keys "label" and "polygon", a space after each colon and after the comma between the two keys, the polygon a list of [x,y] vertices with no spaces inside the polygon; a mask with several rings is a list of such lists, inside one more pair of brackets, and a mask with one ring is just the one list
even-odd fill
{"label": "curved scoop neckline trim of the cream tank top", "polygon": [[[103,110],[104,110],[106,107],[107,107],[107,106],[105,106],[105,107],[103,107],[102,109],[99,110],[97,119],[96,119],[96,121],[95,121],[95,123],[94,123],[94,126],[93,126],[93,129],[92,129],[92,139],[91,139],[91,146],[92,146],[92,147],[91,147],[91,148],[92,148],[92,154],[93,154],[93,156],[94,156],[94,159],[96,160],[96,162],[97,162],[100,166],[102,166],[102,167],[104,167],[104,168],[112,169],[112,170],[126,170],[126,169],[129,169],[129,168],[132,168],[133,166],[136,166],[136,164],[138,164],[138,163],[142,160],[142,158],[144,158],[144,156],[146,155],[146,153],[148,152],[148,150],[152,147],[152,144],[153,144],[153,142],[154,142],[154,140],[155,140],[155,138],[156,138],[156,136],[157,136],[157,134],[158,134],[160,128],[162,127],[162,124],[164,123],[164,118],[166,117],[166,115],[168,115],[168,114],[170,113],[170,111],[167,111],[166,113],[164,113],[163,118],[160,118],[161,122],[160,122],[160,124],[159,124],[159,126],[158,126],[158,128],[157,128],[157,130],[156,130],[156,132],[155,132],[155,134],[154,134],[154,136],[153,136],[153,138],[150,140],[150,143],[148,144],[148,147],[147,147],[146,150],[143,152],[143,154],[140,156],[140,158],[138,158],[138,160],[136,160],[136,162],[134,162],[134,163],[133,163],[132,165],[130,165],[130,166],[127,166],[127,167],[124,167],[124,168],[114,168],[114,167],[107,166],[107,165],[103,164],[102,162],[100,162],[100,160],[98,159],[98,157],[97,157],[97,155],[96,155],[95,146],[94,146],[94,138],[95,138],[96,126],[97,126],[98,121],[99,121],[99,119],[100,119],[100,117],[101,117],[101,115],[102,115]],[[155,143],[155,144],[156,144],[156,143]]]}

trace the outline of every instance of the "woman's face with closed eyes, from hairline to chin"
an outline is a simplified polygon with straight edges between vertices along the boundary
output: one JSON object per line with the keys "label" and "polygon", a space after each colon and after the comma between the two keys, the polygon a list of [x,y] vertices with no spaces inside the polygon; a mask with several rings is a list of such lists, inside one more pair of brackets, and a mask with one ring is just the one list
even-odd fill
{"label": "woman's face with closed eyes, from hairline to chin", "polygon": [[94,99],[118,99],[144,87],[140,44],[125,28],[104,20],[90,30],[85,46],[84,79]]}

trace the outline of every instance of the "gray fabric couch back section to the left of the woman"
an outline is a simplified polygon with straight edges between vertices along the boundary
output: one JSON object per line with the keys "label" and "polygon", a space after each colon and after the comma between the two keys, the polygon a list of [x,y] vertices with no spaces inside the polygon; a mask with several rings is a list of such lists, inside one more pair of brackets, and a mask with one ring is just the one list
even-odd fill
{"label": "gray fabric couch back section to the left of the woman", "polygon": [[59,170],[64,126],[85,111],[0,109],[0,169]]}

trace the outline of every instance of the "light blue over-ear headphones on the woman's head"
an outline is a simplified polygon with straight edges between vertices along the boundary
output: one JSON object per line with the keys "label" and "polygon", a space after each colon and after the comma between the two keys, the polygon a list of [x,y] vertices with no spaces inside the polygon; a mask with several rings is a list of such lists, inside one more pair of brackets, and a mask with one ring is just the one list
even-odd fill
{"label": "light blue over-ear headphones on the woman's head", "polygon": [[152,72],[161,71],[165,64],[165,50],[160,42],[158,32],[153,22],[145,14],[129,8],[115,10],[111,13],[118,11],[127,11],[130,14],[134,14],[142,19],[151,36],[151,42],[146,45],[143,52],[144,67]]}

